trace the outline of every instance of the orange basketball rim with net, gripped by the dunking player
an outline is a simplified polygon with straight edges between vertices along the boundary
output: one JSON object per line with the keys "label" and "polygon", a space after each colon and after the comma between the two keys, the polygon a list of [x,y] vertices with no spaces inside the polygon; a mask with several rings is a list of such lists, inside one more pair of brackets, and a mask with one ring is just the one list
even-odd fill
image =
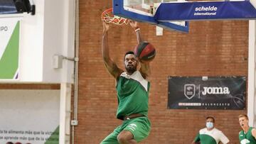
{"label": "orange basketball rim with net, gripped by the dunking player", "polygon": [[107,9],[102,13],[102,20],[106,23],[114,23],[116,25],[128,24],[129,20],[127,18],[122,18],[119,16],[114,16],[112,13],[112,8]]}

